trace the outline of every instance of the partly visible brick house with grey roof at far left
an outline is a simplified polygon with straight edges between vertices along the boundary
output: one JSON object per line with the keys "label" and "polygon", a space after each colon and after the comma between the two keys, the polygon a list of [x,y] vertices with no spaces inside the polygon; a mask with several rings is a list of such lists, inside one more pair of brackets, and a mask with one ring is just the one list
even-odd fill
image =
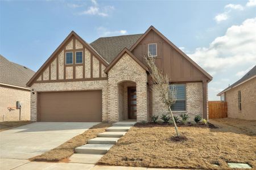
{"label": "partly visible brick house with grey roof at far left", "polygon": [[[0,55],[0,121],[30,120],[30,88],[26,83],[34,74]],[[21,108],[16,108],[17,101]]]}

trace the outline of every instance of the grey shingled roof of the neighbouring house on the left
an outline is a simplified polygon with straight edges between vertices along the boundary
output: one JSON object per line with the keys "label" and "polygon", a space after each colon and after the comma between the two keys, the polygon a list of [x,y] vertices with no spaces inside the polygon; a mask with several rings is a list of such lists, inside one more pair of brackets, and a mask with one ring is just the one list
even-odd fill
{"label": "grey shingled roof of the neighbouring house on the left", "polygon": [[10,62],[0,55],[0,83],[19,87],[27,87],[26,83],[35,74],[35,71],[25,66]]}

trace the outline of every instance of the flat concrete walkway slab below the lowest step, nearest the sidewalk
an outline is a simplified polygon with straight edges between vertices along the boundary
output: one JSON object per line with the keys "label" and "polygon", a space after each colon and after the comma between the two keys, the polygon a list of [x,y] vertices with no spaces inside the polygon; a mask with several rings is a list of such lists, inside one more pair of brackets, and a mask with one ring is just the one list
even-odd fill
{"label": "flat concrete walkway slab below the lowest step, nearest the sidewalk", "polygon": [[68,159],[71,163],[96,164],[102,156],[97,154],[73,154]]}

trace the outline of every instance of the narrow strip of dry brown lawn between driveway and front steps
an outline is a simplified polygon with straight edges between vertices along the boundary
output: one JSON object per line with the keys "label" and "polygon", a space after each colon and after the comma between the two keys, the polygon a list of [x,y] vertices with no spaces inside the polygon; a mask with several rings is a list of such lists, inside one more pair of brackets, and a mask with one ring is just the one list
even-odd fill
{"label": "narrow strip of dry brown lawn between driveway and front steps", "polygon": [[69,141],[63,143],[56,148],[53,148],[50,151],[45,152],[42,155],[30,158],[30,160],[44,162],[66,161],[66,158],[74,154],[76,147],[85,145],[89,139],[96,138],[97,134],[104,132],[106,128],[110,126],[112,126],[112,124],[101,123],[94,125],[92,128],[86,130],[84,133],[73,137]]}

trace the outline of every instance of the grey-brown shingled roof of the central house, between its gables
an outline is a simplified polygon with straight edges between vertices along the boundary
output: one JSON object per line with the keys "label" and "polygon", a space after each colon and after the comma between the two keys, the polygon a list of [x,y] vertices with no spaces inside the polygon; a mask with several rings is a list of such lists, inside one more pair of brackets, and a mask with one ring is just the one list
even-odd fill
{"label": "grey-brown shingled roof of the central house, between its gables", "polygon": [[143,34],[135,35],[124,35],[124,36],[114,36],[114,37],[100,37],[99,39],[90,43],[90,45],[104,58],[107,62],[112,62],[112,60],[117,57],[117,55],[126,47],[131,48],[135,42]]}

